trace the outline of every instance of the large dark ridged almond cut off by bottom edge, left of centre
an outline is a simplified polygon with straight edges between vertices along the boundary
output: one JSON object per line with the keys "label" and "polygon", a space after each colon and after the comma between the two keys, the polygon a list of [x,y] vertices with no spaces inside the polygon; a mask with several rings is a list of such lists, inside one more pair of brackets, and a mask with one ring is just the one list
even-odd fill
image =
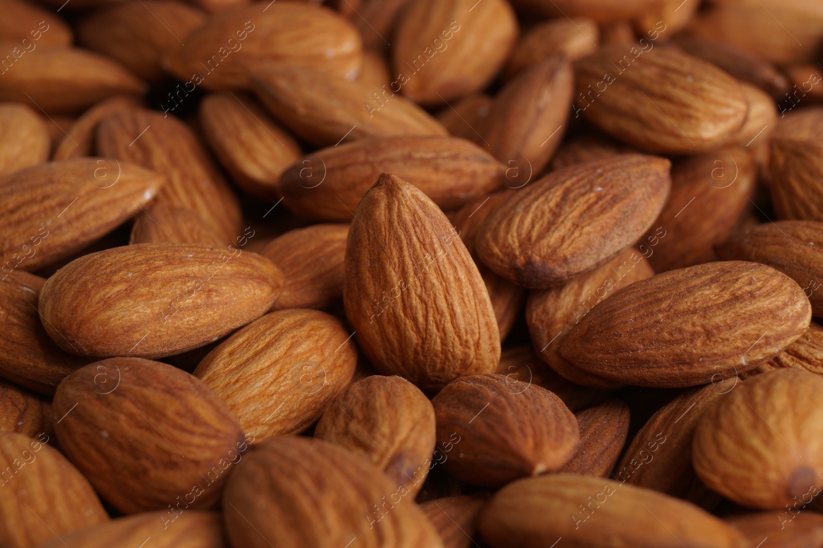
{"label": "large dark ridged almond cut off by bottom edge, left of centre", "polygon": [[[389,498],[391,510],[380,513]],[[356,537],[365,548],[443,548],[411,495],[322,439],[281,436],[253,448],[231,475],[223,508],[231,546],[331,548]]]}

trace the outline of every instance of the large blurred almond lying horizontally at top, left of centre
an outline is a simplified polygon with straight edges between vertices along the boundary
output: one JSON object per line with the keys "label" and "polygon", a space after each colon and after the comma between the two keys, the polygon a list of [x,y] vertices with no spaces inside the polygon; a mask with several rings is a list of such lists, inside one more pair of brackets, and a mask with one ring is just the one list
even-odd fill
{"label": "large blurred almond lying horizontally at top, left of centre", "polygon": [[167,71],[207,90],[251,86],[249,69],[298,66],[353,77],[363,44],[346,18],[308,2],[254,3],[209,17],[165,57]]}

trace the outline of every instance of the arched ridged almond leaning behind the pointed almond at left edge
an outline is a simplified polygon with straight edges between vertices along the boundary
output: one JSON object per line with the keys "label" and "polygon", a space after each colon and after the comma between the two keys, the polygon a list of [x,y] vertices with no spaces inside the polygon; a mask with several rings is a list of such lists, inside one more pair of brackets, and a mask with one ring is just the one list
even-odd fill
{"label": "arched ridged almond leaning behind the pointed almond at left edge", "polygon": [[[120,110],[100,121],[100,154],[133,162],[164,174],[156,204],[188,208],[233,243],[240,235],[240,206],[195,133],[183,122],[159,112]],[[148,210],[151,215],[151,208]]]}

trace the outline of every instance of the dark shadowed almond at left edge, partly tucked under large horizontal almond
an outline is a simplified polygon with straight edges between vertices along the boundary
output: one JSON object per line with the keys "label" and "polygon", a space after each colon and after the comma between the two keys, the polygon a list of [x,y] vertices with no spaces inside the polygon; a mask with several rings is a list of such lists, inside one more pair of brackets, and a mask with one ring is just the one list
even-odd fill
{"label": "dark shadowed almond at left edge, partly tucked under large horizontal almond", "polygon": [[0,309],[4,316],[0,377],[35,392],[53,395],[63,377],[89,360],[67,354],[43,327],[37,300],[44,283],[44,278],[21,271],[14,271],[0,281]]}

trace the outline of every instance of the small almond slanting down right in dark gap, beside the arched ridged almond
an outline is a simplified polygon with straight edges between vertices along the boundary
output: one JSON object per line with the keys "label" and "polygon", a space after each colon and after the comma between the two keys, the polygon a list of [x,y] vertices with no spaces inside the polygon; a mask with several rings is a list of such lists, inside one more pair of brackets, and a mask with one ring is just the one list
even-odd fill
{"label": "small almond slanting down right in dark gap, beside the arched ridged almond", "polygon": [[207,95],[199,112],[209,146],[235,183],[254,197],[280,199],[280,174],[300,157],[294,138],[249,95]]}

